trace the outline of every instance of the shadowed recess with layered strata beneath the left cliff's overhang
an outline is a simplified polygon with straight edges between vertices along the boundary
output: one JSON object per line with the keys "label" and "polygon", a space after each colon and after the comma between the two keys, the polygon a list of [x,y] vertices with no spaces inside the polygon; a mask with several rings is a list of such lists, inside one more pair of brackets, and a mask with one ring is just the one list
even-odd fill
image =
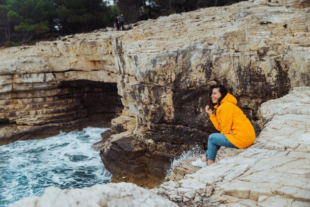
{"label": "shadowed recess with layered strata beneath the left cliff's overhang", "polygon": [[[14,93],[13,93],[14,94]],[[109,127],[123,109],[116,83],[62,81],[45,90],[15,93],[0,117],[0,144],[53,136],[87,126]],[[44,96],[45,95],[45,96]],[[4,114],[4,115],[6,115]]]}

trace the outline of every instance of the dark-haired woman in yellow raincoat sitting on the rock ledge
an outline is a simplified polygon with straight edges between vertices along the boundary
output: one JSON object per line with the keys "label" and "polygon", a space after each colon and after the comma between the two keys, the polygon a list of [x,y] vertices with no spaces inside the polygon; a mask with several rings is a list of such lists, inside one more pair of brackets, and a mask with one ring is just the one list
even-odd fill
{"label": "dark-haired woman in yellow raincoat sitting on the rock ledge", "polygon": [[[213,164],[221,146],[241,149],[250,147],[255,141],[255,131],[250,120],[236,105],[236,98],[227,93],[223,85],[212,85],[209,99],[206,112],[214,127],[221,133],[213,133],[209,136],[207,153],[203,158],[192,162],[192,165],[197,167]],[[216,115],[212,111],[214,108]]]}

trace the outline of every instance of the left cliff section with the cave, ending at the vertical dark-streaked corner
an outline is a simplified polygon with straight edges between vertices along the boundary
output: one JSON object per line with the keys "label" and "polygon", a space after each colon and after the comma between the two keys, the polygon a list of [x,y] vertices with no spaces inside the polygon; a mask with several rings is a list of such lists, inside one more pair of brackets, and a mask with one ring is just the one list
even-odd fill
{"label": "left cliff section with the cave, ending at the vertical dark-streaked corner", "polygon": [[0,144],[109,127],[121,114],[110,45],[82,37],[1,51]]}

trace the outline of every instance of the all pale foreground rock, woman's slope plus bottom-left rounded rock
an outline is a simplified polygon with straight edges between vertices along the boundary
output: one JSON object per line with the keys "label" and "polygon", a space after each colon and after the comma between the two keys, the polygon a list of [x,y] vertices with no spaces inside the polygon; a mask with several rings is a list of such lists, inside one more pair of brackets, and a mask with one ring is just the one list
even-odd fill
{"label": "all pale foreground rock, woman's slope plus bottom-left rounded rock", "polygon": [[[224,149],[219,161],[204,168],[187,164],[193,158],[183,160],[174,171],[177,179],[172,173],[169,182],[152,192],[130,183],[71,190],[49,187],[43,196],[23,198],[9,207],[309,207],[309,108],[310,87],[294,88],[280,99],[263,103],[262,131],[253,146],[229,153]],[[192,171],[184,176],[189,168]]]}

